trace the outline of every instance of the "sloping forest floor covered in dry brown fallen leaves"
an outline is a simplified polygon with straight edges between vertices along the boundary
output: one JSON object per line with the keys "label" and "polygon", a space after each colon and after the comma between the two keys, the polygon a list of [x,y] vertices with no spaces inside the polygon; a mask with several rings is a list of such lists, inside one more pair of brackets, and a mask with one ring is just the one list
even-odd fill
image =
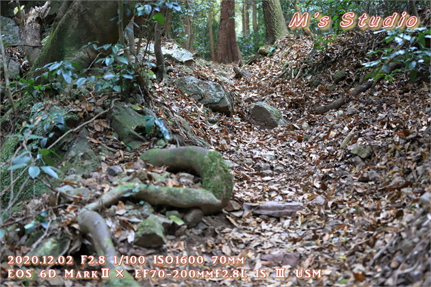
{"label": "sloping forest floor covered in dry brown fallen leaves", "polygon": [[[236,93],[232,117],[209,111],[175,87],[154,84],[156,113],[175,124],[181,116],[207,148],[222,153],[234,177],[234,194],[223,213],[204,217],[181,236],[169,235],[168,243],[159,249],[127,243],[124,230],[117,229],[118,254],[204,256],[204,266],[154,266],[148,261],[130,268],[166,272],[226,269],[244,272],[247,277],[169,277],[139,282],[145,286],[431,286],[429,81],[410,83],[399,74],[358,96],[365,100],[389,98],[385,102],[350,101],[323,115],[314,112],[348,93],[356,87],[356,80],[369,72],[358,70],[358,63],[370,61],[366,52],[380,41],[376,37],[363,31],[345,33],[328,43],[327,49],[314,51],[312,57],[312,41],[296,36],[280,40],[272,57],[241,67],[252,76],[223,84]],[[278,77],[287,63],[297,68],[296,74],[316,68],[313,76],[320,77],[322,83],[312,87],[312,79],[302,74],[298,79]],[[234,76],[233,65],[200,59],[193,70],[195,77],[204,80],[220,82],[220,74]],[[339,70],[347,77],[330,91],[328,86],[334,84],[331,75]],[[169,76],[181,74],[186,72]],[[285,123],[270,130],[259,128],[248,114],[250,104],[258,100],[276,107]],[[170,126],[172,132],[180,134],[175,124]],[[341,148],[349,134],[352,139]],[[94,132],[92,137],[109,143],[103,133]],[[365,158],[352,153],[365,146],[371,148]],[[135,152],[136,156],[115,156],[109,165],[130,166],[140,153],[142,150]],[[103,182],[102,178],[96,180],[97,184]],[[177,184],[177,180],[172,175],[170,184]],[[297,202],[303,209],[281,218],[244,210],[244,203],[263,202]],[[29,204],[28,208],[36,212],[42,206]],[[140,207],[126,202],[117,208]],[[67,212],[67,216],[66,211],[59,216],[70,219],[74,211]],[[104,217],[108,216],[116,215],[106,213]],[[127,213],[121,220],[125,219]],[[120,226],[118,219],[112,221],[112,226]],[[69,228],[76,225],[73,220],[69,224]],[[211,264],[211,256],[233,261]],[[235,264],[235,260],[244,264]],[[280,268],[278,273],[276,268]],[[261,271],[257,273],[257,269]],[[320,269],[322,277],[298,279],[296,269]],[[276,278],[280,272],[283,275]],[[98,283],[58,278],[55,283],[40,280],[39,284]]]}

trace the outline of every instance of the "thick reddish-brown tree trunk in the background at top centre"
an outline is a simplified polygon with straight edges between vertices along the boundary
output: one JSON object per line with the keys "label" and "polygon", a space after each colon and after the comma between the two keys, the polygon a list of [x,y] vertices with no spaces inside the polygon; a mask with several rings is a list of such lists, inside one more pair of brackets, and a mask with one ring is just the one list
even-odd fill
{"label": "thick reddish-brown tree trunk in the background at top centre", "polygon": [[217,61],[231,63],[241,60],[235,34],[235,1],[223,0],[217,39]]}

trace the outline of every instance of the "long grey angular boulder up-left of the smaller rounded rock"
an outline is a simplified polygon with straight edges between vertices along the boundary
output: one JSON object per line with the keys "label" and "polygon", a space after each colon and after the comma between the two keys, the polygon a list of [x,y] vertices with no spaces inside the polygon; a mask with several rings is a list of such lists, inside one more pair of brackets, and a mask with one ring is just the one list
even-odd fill
{"label": "long grey angular boulder up-left of the smaller rounded rock", "polygon": [[212,111],[232,115],[233,100],[219,83],[202,81],[192,76],[181,77],[174,81],[178,90],[200,102]]}

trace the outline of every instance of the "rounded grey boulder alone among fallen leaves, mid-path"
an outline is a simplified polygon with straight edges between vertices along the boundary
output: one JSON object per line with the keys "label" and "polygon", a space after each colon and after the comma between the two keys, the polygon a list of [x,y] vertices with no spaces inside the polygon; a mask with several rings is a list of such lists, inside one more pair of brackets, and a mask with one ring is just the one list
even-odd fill
{"label": "rounded grey boulder alone among fallen leaves, mid-path", "polygon": [[250,105],[250,117],[261,128],[276,128],[283,123],[280,111],[265,102],[256,102]]}

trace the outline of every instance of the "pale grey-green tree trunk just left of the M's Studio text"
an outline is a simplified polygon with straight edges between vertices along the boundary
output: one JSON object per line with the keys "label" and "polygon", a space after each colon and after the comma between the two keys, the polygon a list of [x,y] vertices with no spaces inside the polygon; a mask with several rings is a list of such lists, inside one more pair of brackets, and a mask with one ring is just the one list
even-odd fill
{"label": "pale grey-green tree trunk just left of the M's Studio text", "polygon": [[268,44],[274,44],[276,40],[289,33],[281,11],[280,0],[264,0],[262,1],[262,8],[265,18],[266,41]]}

